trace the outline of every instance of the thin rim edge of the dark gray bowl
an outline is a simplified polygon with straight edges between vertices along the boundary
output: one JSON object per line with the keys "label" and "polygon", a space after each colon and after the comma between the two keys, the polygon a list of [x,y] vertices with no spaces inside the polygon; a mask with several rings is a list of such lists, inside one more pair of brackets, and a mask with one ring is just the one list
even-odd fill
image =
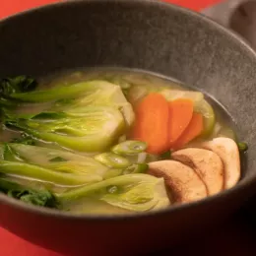
{"label": "thin rim edge of the dark gray bowl", "polygon": [[[156,7],[161,7],[165,8],[166,10],[174,10],[177,11],[183,15],[190,16],[193,18],[196,18],[198,20],[203,21],[206,25],[208,25],[211,28],[215,28],[218,31],[224,32],[226,36],[236,40],[244,47],[245,50],[251,54],[251,56],[254,56],[256,60],[256,52],[253,50],[253,48],[248,44],[248,42],[245,41],[244,38],[242,38],[239,34],[236,32],[231,32],[228,29],[224,28],[222,25],[219,23],[215,22],[214,20],[206,17],[203,14],[194,12],[192,10],[162,2],[159,0],[76,0],[76,1],[61,1],[57,3],[51,3],[45,6],[39,6],[32,8],[30,10],[23,11],[21,13],[9,16],[7,18],[4,18],[0,20],[0,28],[3,26],[5,23],[9,23],[14,21],[15,19],[19,19],[25,15],[29,15],[32,13],[40,12],[40,11],[47,11],[50,9],[54,8],[61,8],[62,6],[74,6],[74,5],[80,5],[80,4],[96,4],[96,3],[109,3],[109,4],[114,4],[114,3],[123,3],[123,4],[133,4],[133,5],[151,5],[151,6],[156,6]],[[1,43],[1,42],[0,42]],[[146,212],[146,213],[133,213],[133,214],[118,214],[118,215],[89,215],[89,214],[72,214],[72,213],[67,213],[67,212],[62,212],[59,210],[55,209],[48,209],[48,208],[43,208],[43,207],[38,207],[38,206],[32,206],[26,203],[23,203],[19,200],[13,199],[8,197],[5,194],[0,193],[0,207],[1,205],[3,206],[10,206],[11,208],[24,211],[24,212],[29,212],[30,214],[35,214],[39,216],[44,216],[44,217],[52,217],[52,218],[58,218],[58,219],[64,219],[64,220],[86,220],[90,222],[122,222],[122,221],[131,221],[131,220],[137,220],[141,218],[151,218],[155,216],[164,216],[164,215],[169,215],[171,213],[176,213],[180,211],[185,211],[186,209],[189,208],[196,208],[197,206],[200,205],[206,205],[210,204],[211,202],[215,202],[218,200],[225,200],[228,197],[230,197],[232,194],[236,194],[240,192],[241,190],[249,190],[250,187],[253,185],[256,185],[256,173],[254,176],[251,176],[247,179],[241,179],[236,186],[232,187],[231,189],[225,190],[217,195],[207,197],[205,199],[192,202],[192,203],[187,203],[187,204],[181,204],[181,205],[175,205],[166,209],[161,209],[159,211],[152,211],[152,212]]]}

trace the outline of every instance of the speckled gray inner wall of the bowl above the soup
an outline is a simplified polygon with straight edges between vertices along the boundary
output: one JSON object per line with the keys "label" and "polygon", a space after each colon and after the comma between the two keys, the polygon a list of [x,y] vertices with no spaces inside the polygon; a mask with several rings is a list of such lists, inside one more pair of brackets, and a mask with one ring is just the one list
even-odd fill
{"label": "speckled gray inner wall of the bowl above the soup", "polygon": [[126,67],[172,77],[217,98],[249,144],[255,176],[256,56],[236,35],[158,1],[75,1],[0,23],[0,77],[80,67]]}

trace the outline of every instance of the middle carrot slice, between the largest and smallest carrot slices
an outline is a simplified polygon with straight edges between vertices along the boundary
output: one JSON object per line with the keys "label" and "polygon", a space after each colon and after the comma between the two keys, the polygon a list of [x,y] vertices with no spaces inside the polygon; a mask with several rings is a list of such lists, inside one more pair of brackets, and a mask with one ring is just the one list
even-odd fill
{"label": "middle carrot slice, between the largest and smallest carrot slices", "polygon": [[179,98],[169,102],[169,143],[173,145],[188,127],[194,111],[194,103],[189,98]]}

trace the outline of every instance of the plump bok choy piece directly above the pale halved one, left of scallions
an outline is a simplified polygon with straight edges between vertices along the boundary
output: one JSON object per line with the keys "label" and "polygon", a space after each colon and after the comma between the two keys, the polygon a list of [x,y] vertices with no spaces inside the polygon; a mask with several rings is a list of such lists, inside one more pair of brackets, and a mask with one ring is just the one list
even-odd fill
{"label": "plump bok choy piece directly above the pale halved one, left of scallions", "polygon": [[[47,115],[46,115],[47,116]],[[80,152],[103,152],[124,132],[124,119],[113,106],[87,106],[51,117],[9,119],[5,124],[61,148]]]}

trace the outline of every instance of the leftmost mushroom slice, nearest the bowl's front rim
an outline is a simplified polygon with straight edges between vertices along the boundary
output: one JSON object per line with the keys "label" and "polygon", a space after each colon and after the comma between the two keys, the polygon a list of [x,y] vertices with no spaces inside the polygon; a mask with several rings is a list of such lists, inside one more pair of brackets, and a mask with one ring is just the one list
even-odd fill
{"label": "leftmost mushroom slice, nearest the bowl's front rim", "polygon": [[160,160],[149,164],[149,174],[163,177],[170,191],[170,200],[189,203],[207,197],[207,188],[189,166],[175,160]]}

